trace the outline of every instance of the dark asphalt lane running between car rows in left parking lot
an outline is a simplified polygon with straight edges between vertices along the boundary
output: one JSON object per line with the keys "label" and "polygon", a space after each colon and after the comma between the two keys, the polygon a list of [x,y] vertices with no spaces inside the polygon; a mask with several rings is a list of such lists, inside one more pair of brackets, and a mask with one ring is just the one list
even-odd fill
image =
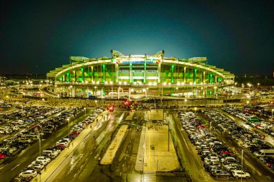
{"label": "dark asphalt lane running between car rows in left parking lot", "polygon": [[[90,109],[86,110],[86,116],[84,112],[78,115],[75,119],[71,119],[70,127],[73,127],[75,123],[84,121],[84,119],[91,112]],[[41,140],[41,152],[48,147],[55,145],[58,140],[62,139],[62,137],[68,134],[68,125],[62,125],[56,134],[51,134],[46,139]],[[11,181],[14,177],[16,177],[23,168],[26,168],[29,164],[31,164],[36,157],[39,156],[39,142],[34,142],[31,146],[27,147],[18,155],[15,155],[12,158],[12,161],[8,164],[2,164],[0,166],[0,181]]]}

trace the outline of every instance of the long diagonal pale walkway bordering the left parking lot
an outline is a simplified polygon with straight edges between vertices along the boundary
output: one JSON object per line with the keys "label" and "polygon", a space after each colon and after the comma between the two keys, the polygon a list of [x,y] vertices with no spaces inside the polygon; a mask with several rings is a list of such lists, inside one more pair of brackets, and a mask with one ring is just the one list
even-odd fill
{"label": "long diagonal pale walkway bordering the left parking lot", "polygon": [[[71,143],[71,146],[64,149],[64,151],[62,151],[60,153],[60,155],[58,155],[58,157],[55,158],[55,160],[51,161],[46,168],[44,168],[41,171],[41,175],[37,175],[34,179],[32,179],[32,181],[54,181],[55,176],[58,175],[58,173],[64,168],[64,166],[68,165],[69,162],[71,161],[71,156],[73,151],[75,150],[75,148],[77,147],[77,145],[79,145],[80,142],[82,142],[82,140],[84,140],[84,138],[86,138],[86,136],[88,135],[88,133],[91,132],[91,130],[93,129],[93,127],[95,127],[95,125],[97,125],[102,119],[105,119],[104,115],[106,114],[106,112],[102,112],[101,115],[99,115],[99,117],[97,117],[98,121],[96,122],[92,122],[90,123],[90,125],[88,125],[88,127],[83,130],[79,136],[77,136],[75,138],[75,140],[73,140],[73,145]],[[87,116],[88,117],[88,116]],[[90,127],[91,126],[91,127]]]}

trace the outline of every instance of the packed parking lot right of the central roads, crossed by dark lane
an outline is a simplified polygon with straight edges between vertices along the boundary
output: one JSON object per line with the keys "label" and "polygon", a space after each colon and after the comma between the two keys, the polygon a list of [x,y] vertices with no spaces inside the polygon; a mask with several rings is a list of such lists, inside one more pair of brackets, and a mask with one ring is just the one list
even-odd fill
{"label": "packed parking lot right of the central roads, crossed by dark lane", "polygon": [[[245,128],[237,127],[234,121],[229,121],[215,110],[206,111],[203,114],[197,113],[197,115],[193,112],[179,111],[178,117],[189,140],[196,146],[197,153],[201,155],[205,170],[214,180],[220,181],[223,178],[236,180],[241,177],[239,172],[242,172],[243,179],[271,181],[274,174],[272,171],[264,168],[256,157],[247,155],[247,151],[244,151],[243,162],[241,162],[241,148],[231,142],[235,137],[233,134],[241,136],[242,139],[247,137]],[[256,134],[250,137],[253,137],[253,141],[258,141],[259,138]],[[242,143],[246,145],[245,142]],[[264,142],[260,145],[268,146]]]}

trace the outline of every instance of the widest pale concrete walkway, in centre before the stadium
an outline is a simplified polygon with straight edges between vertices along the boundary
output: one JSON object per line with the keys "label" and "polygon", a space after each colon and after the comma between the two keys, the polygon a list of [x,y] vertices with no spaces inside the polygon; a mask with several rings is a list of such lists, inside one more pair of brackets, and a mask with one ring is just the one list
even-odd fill
{"label": "widest pale concrete walkway, in centre before the stadium", "polygon": [[146,130],[143,131],[146,132],[143,171],[167,172],[179,168],[168,126],[147,122]]}

